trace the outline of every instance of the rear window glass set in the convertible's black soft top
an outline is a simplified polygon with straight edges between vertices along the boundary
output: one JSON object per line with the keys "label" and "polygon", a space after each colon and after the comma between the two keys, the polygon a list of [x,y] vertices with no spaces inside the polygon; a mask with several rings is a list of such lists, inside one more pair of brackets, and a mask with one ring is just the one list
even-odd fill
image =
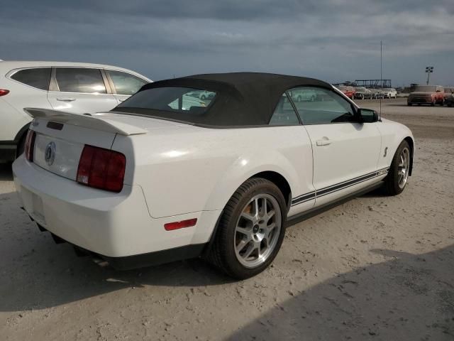
{"label": "rear window glass set in the convertible's black soft top", "polygon": [[[179,119],[188,121],[188,115],[206,112],[216,92],[189,87],[155,87],[134,94],[116,109],[151,109],[179,113]],[[155,114],[150,114],[155,116]]]}

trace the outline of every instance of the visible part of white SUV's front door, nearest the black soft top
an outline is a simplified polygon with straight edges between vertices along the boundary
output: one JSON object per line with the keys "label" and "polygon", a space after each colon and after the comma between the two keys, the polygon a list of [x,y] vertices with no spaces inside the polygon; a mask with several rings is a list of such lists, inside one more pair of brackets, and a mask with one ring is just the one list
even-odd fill
{"label": "visible part of white SUV's front door, nearest the black soft top", "polygon": [[147,80],[143,80],[127,72],[117,70],[105,71],[118,104],[131,97],[135,92],[138,92],[140,87],[148,83]]}

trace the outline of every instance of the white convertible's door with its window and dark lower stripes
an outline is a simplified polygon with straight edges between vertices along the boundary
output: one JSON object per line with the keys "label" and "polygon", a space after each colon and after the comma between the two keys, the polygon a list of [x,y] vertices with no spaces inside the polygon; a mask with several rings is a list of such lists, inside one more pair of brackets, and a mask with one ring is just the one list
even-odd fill
{"label": "white convertible's door with its window and dark lower stripes", "polygon": [[295,103],[314,158],[316,206],[373,182],[382,138],[376,123],[359,123],[356,108],[341,94],[316,87],[313,102]]}

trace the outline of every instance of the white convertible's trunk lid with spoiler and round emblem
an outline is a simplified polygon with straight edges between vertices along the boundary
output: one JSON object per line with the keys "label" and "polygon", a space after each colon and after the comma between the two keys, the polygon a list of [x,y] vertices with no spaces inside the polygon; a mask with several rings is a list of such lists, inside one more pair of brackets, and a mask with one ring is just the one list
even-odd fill
{"label": "white convertible's trunk lid with spoiler and round emblem", "polygon": [[[85,145],[111,149],[117,135],[140,135],[156,130],[162,133],[175,131],[179,126],[189,127],[172,121],[113,112],[86,116],[50,109],[24,110],[34,117],[31,123],[36,134],[33,163],[71,180],[77,179],[79,159]],[[126,159],[128,164],[127,155]]]}

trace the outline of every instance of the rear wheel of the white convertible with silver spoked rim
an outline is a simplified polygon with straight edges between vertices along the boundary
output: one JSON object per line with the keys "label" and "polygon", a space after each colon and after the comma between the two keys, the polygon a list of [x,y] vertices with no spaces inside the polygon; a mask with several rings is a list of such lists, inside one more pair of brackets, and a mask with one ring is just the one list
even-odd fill
{"label": "rear wheel of the white convertible with silver spoked rim", "polygon": [[[264,202],[267,215],[263,213]],[[268,218],[272,209],[275,213]],[[208,261],[233,278],[260,274],[275,259],[282,245],[286,219],[287,205],[274,183],[263,178],[246,180],[223,210]],[[275,227],[268,229],[272,224]],[[258,245],[265,248],[262,258]]]}

